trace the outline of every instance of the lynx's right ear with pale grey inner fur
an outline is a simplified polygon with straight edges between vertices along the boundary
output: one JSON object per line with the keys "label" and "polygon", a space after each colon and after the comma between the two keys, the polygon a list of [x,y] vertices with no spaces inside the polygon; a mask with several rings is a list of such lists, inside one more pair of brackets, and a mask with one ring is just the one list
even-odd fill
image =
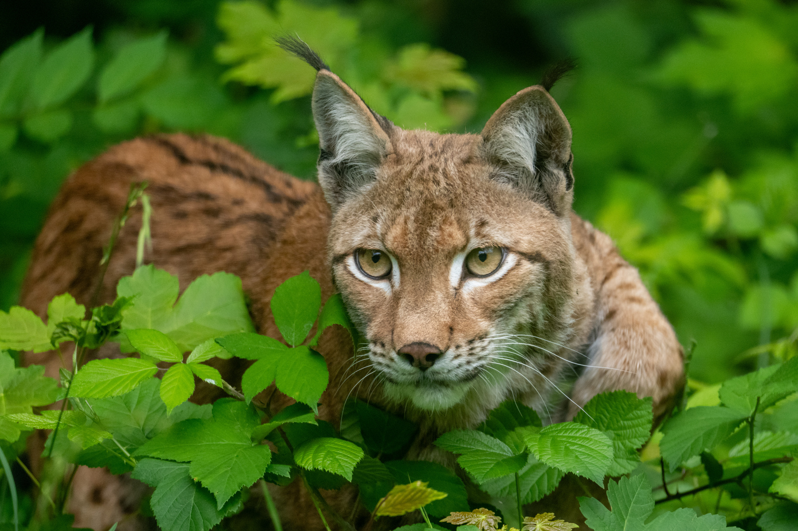
{"label": "lynx's right ear with pale grey inner fur", "polygon": [[482,130],[483,156],[496,180],[516,186],[566,216],[573,200],[571,126],[540,85],[523,89],[493,113]]}

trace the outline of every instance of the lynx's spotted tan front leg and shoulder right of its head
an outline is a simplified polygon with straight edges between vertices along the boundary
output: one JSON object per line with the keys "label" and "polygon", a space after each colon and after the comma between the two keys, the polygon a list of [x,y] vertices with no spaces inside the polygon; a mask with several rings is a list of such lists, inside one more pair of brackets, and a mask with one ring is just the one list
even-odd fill
{"label": "lynx's spotted tan front leg and shoulder right of its head", "polygon": [[[681,345],[637,269],[618,255],[608,236],[583,223],[589,244],[580,251],[593,276],[597,311],[588,348],[591,367],[576,381],[573,399],[582,406],[603,391],[629,390],[654,398],[656,422],[683,385]],[[568,418],[577,411],[571,404]]]}

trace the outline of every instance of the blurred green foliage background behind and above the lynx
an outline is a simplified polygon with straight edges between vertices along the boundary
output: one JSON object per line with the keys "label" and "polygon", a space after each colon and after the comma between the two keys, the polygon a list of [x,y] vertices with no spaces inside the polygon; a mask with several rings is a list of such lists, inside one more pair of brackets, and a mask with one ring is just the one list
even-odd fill
{"label": "blurred green foliage background behind and above the lynx", "polygon": [[786,0],[6,2],[0,308],[18,299],[61,181],[109,145],[207,132],[314,178],[314,73],[275,48],[280,34],[397,125],[442,132],[479,132],[574,57],[552,94],[574,130],[575,209],[640,268],[681,342],[695,339],[691,376],[796,354],[798,2]]}

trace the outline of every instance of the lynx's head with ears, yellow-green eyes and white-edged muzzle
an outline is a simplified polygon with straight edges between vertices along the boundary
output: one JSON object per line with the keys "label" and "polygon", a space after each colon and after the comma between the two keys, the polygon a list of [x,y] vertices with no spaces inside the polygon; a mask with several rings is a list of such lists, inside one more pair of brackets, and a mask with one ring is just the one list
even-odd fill
{"label": "lynx's head with ears, yellow-green eyes and white-edged muzzle", "polygon": [[511,97],[480,134],[440,135],[393,125],[306,60],[334,281],[385,395],[446,410],[543,393],[575,291],[571,128],[547,89]]}

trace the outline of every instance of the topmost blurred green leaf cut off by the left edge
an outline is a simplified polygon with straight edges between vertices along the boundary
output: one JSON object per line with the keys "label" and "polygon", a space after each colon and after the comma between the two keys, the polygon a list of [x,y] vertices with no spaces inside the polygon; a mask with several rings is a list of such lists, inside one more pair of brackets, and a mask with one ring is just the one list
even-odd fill
{"label": "topmost blurred green leaf cut off by the left edge", "polygon": [[20,101],[41,61],[43,30],[9,46],[0,56],[0,117],[18,112]]}

